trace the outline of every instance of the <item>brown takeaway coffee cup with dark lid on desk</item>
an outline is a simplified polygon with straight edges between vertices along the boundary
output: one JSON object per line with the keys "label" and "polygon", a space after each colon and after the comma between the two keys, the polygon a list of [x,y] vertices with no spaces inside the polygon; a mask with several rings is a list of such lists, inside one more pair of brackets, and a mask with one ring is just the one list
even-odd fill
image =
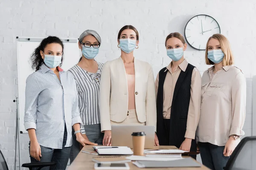
{"label": "brown takeaway coffee cup with dark lid on desk", "polygon": [[145,132],[134,132],[131,134],[134,155],[143,156],[144,145],[145,145]]}

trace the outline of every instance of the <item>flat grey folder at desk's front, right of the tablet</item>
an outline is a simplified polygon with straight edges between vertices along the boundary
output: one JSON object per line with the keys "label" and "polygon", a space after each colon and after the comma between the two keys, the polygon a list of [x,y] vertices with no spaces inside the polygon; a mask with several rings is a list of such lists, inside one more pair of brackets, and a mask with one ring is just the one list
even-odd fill
{"label": "flat grey folder at desk's front, right of the tablet", "polygon": [[133,162],[140,168],[161,168],[161,167],[201,167],[201,164],[192,158],[178,159],[174,161],[136,161]]}

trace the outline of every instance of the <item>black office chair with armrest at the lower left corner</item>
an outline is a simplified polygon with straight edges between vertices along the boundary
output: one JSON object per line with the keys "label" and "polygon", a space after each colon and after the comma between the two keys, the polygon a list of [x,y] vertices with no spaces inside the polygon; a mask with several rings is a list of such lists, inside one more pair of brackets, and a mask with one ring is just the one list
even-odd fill
{"label": "black office chair with armrest at the lower left corner", "polygon": [[[29,170],[32,170],[32,168],[37,167],[38,170],[41,170],[41,168],[43,167],[54,166],[55,164],[56,164],[55,162],[38,162],[38,163],[22,164],[22,167],[27,167],[29,168]],[[9,170],[1,150],[0,150],[0,170]]]}

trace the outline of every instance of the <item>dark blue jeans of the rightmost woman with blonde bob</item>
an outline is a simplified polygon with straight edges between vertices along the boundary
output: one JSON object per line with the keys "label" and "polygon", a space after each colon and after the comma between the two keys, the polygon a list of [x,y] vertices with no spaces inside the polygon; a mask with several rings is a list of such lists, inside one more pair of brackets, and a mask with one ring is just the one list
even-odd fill
{"label": "dark blue jeans of the rightmost woman with blonde bob", "polygon": [[223,155],[225,146],[199,142],[202,163],[211,170],[223,170],[229,157]]}

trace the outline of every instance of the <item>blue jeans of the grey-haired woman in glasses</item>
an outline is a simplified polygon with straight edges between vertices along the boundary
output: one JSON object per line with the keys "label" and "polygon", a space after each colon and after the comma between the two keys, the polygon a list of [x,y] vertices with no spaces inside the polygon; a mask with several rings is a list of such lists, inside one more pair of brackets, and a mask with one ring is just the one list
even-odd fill
{"label": "blue jeans of the grey-haired woman in glasses", "polygon": [[[102,145],[104,133],[101,133],[100,124],[84,125],[84,130],[90,142]],[[79,154],[81,150],[79,142],[76,141],[76,135],[74,135],[74,131],[72,132],[72,137],[73,137],[73,144],[72,144],[71,153],[70,153],[70,164],[74,161],[74,159],[76,158],[76,156]]]}

